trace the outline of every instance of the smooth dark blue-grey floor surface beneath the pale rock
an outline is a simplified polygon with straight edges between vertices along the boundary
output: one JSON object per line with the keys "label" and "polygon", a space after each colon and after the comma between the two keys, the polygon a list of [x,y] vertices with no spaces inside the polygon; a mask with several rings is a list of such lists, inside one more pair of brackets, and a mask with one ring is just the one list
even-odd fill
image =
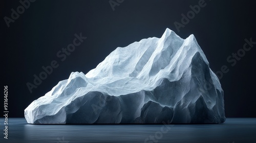
{"label": "smooth dark blue-grey floor surface beneath the pale rock", "polygon": [[9,118],[8,139],[1,142],[256,142],[256,118],[227,118],[206,125],[30,125]]}

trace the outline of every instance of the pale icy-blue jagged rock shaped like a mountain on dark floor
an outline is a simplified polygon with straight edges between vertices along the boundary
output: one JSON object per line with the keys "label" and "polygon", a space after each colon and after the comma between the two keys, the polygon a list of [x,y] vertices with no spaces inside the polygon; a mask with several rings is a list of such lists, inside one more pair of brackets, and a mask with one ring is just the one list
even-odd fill
{"label": "pale icy-blue jagged rock shaped like a mountain on dark floor", "polygon": [[71,73],[25,109],[31,124],[223,123],[223,90],[194,35],[166,29]]}

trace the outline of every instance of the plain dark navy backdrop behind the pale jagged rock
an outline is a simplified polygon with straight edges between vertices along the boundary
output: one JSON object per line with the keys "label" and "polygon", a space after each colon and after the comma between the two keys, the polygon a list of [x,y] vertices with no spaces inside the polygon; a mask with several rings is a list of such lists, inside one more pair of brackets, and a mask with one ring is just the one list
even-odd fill
{"label": "plain dark navy backdrop behind the pale jagged rock", "polygon": [[[37,0],[9,28],[4,17],[11,17],[11,9],[16,11],[21,4],[0,2],[1,83],[2,90],[8,85],[9,117],[24,117],[24,109],[32,101],[44,96],[59,81],[68,79],[72,71],[86,74],[116,47],[161,37],[166,28],[181,38],[194,34],[213,71],[228,66],[229,72],[220,79],[227,117],[256,117],[253,57],[256,45],[236,65],[227,62],[228,56],[243,48],[245,38],[256,41],[254,1],[205,0],[207,5],[180,32],[174,22],[181,22],[181,14],[190,11],[189,6],[197,5],[199,0],[125,0],[115,11],[109,0]],[[56,53],[73,42],[75,33],[88,38],[62,62]],[[33,83],[33,75],[38,76],[44,71],[41,66],[48,66],[53,60],[59,66],[30,93],[26,83]],[[2,112],[3,107],[0,109]]]}

